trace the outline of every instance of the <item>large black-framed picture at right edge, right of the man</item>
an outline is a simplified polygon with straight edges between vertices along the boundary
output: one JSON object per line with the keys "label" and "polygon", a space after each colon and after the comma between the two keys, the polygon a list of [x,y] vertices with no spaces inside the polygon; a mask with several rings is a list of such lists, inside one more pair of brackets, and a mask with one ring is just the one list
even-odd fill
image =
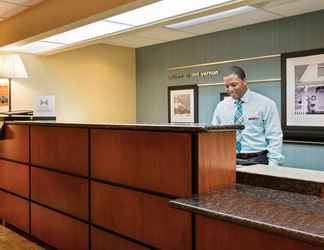
{"label": "large black-framed picture at right edge, right of the man", "polygon": [[282,54],[281,70],[284,138],[324,142],[324,49]]}

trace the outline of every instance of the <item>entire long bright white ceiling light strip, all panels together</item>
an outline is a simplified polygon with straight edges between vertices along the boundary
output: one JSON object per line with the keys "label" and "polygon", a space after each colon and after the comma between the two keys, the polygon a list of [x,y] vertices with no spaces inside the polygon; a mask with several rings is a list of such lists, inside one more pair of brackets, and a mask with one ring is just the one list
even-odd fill
{"label": "entire long bright white ceiling light strip, all panels together", "polygon": [[0,49],[35,54],[48,52],[78,42],[88,41],[116,32],[124,32],[137,26],[199,11],[231,1],[233,0],[161,0],[36,42],[22,46],[9,45]]}

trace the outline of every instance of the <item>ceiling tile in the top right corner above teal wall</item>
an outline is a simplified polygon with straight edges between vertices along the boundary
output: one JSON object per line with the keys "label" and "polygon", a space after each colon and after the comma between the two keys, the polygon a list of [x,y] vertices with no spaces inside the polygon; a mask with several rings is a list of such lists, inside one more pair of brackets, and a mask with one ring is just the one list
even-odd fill
{"label": "ceiling tile in the top right corner above teal wall", "polygon": [[324,9],[324,0],[274,1],[263,6],[263,9],[283,16],[294,16]]}

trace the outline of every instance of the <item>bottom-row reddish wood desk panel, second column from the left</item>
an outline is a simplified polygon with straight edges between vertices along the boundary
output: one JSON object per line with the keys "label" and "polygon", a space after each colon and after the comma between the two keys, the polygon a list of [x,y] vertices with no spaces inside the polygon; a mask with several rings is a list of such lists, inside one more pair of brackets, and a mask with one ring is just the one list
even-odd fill
{"label": "bottom-row reddish wood desk panel, second column from the left", "polygon": [[89,249],[87,224],[31,204],[31,234],[60,250]]}

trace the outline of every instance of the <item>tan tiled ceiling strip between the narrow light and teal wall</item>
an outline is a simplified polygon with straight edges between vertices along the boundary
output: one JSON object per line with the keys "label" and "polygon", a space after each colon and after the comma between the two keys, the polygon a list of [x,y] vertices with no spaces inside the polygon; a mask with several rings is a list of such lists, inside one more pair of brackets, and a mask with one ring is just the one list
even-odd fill
{"label": "tan tiled ceiling strip between the narrow light and teal wall", "polygon": [[[265,4],[256,4],[254,7],[256,7],[256,10],[253,12],[226,17],[205,24],[177,30],[169,29],[164,25],[160,25],[158,27],[146,28],[137,32],[128,32],[109,37],[101,42],[118,46],[139,48],[322,10],[324,9],[324,0],[271,0]],[[172,21],[171,23],[175,22],[176,21]]]}

